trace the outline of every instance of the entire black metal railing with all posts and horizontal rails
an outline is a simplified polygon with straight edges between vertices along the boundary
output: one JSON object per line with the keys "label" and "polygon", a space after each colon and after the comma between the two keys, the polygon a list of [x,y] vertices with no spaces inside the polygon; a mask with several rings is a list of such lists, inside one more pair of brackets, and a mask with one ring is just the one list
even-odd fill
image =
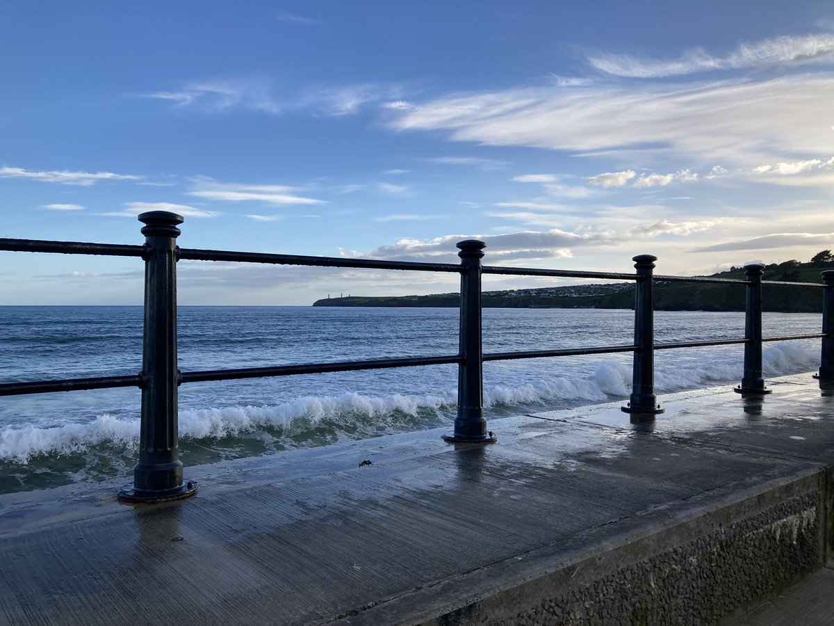
{"label": "entire black metal railing with all posts and horizontal rails", "polygon": [[[192,496],[197,482],[183,480],[183,463],[178,455],[178,386],[198,381],[228,381],[239,378],[292,376],[334,371],[387,369],[392,367],[458,365],[458,406],[453,432],[444,436],[450,443],[492,443],[495,434],[487,428],[484,416],[483,371],[485,361],[505,361],[550,356],[595,355],[633,352],[631,397],[622,410],[637,419],[651,419],[663,412],[654,388],[654,352],[698,346],[744,345],[744,376],[735,391],[742,394],[765,394],[761,369],[761,346],[764,341],[821,338],[821,365],[816,377],[834,381],[834,270],[821,272],[822,283],[763,281],[764,265],[745,266],[746,280],[709,277],[655,276],[657,258],[634,257],[635,274],[594,271],[544,270],[482,265],[485,243],[460,241],[460,265],[344,259],[322,256],[271,255],[229,250],[179,248],[177,237],[180,215],[151,211],[138,216],[143,222],[144,245],[108,245],[72,241],[0,239],[0,250],[48,252],[79,255],[141,257],[145,262],[144,330],[142,371],[136,376],[100,376],[52,381],[9,382],[0,384],[0,396],[76,391],[138,386],[142,390],[139,459],[133,469],[133,484],[118,492],[125,502],[159,502]],[[368,361],[339,361],[271,367],[247,367],[227,370],[184,371],[177,367],[177,261],[210,260],[273,265],[309,265],[349,267],[375,270],[409,270],[452,272],[460,274],[459,351],[454,355],[420,356]],[[556,350],[494,352],[484,354],[481,345],[481,276],[523,275],[545,277],[634,280],[636,283],[634,342],[625,346],[596,346]],[[656,344],[654,341],[653,287],[655,281],[686,281],[745,285],[745,336],[715,341],[679,341]],[[761,331],[761,285],[793,285],[823,288],[822,332],[816,334],[763,337]]]}

